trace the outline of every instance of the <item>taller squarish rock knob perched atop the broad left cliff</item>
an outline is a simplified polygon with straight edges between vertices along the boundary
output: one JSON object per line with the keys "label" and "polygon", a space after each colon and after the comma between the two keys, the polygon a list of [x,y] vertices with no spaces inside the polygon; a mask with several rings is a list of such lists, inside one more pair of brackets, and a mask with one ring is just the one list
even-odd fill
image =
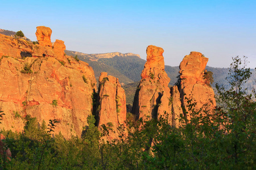
{"label": "taller squarish rock knob perched atop the broad left cliff", "polygon": [[39,45],[52,47],[51,35],[51,28],[44,26],[36,27],[36,38],[38,39]]}

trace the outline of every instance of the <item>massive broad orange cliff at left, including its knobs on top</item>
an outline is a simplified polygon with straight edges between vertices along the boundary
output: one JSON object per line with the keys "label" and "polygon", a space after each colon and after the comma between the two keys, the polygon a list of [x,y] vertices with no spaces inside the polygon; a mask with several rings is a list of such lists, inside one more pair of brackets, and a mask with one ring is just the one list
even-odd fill
{"label": "massive broad orange cliff at left, including its knobs on top", "polygon": [[6,114],[0,129],[21,131],[30,114],[59,120],[55,133],[81,135],[92,114],[96,79],[85,62],[65,56],[63,41],[51,47],[51,29],[37,27],[39,44],[0,34],[0,109]]}

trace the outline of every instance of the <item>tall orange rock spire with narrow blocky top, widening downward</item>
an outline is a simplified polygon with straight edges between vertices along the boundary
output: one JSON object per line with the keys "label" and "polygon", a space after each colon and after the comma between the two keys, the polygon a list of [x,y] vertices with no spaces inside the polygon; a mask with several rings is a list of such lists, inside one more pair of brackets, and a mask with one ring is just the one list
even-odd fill
{"label": "tall orange rock spire with narrow blocky top, widening downward", "polygon": [[[164,71],[164,50],[157,46],[147,47],[147,62],[144,65],[132,112],[143,120],[159,118],[164,113],[171,116],[170,88],[167,73]],[[171,117],[168,117],[171,120]]]}

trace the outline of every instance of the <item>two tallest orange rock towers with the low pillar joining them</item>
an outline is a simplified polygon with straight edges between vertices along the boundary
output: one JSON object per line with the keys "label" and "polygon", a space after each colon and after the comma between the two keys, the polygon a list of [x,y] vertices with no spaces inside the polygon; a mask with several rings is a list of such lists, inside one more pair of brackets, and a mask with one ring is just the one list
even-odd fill
{"label": "two tallest orange rock towers with the low pillar joining them", "polygon": [[[164,50],[150,45],[147,47],[147,62],[141,74],[141,82],[134,97],[132,113],[143,120],[167,116],[172,126],[180,125],[178,119],[183,113],[183,106],[188,111],[188,100],[193,97],[196,109],[208,105],[209,112],[216,106],[213,89],[209,79],[205,79],[205,66],[208,58],[201,53],[191,52],[180,63],[180,84],[168,87],[170,78],[164,71]],[[191,113],[191,112],[188,112]]]}

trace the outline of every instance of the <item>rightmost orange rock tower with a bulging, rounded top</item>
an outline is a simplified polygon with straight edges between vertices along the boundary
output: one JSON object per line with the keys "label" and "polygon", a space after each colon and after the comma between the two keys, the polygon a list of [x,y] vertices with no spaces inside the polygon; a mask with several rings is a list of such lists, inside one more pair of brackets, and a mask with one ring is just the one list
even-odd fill
{"label": "rightmost orange rock tower with a bulging, rounded top", "polygon": [[[208,58],[199,52],[191,52],[183,58],[180,63],[180,93],[181,103],[188,111],[186,97],[190,97],[197,103],[196,108],[200,109],[208,104],[209,110],[212,111],[216,106],[214,91],[209,86],[209,81],[204,79],[205,66]],[[188,116],[189,119],[189,116]]]}

